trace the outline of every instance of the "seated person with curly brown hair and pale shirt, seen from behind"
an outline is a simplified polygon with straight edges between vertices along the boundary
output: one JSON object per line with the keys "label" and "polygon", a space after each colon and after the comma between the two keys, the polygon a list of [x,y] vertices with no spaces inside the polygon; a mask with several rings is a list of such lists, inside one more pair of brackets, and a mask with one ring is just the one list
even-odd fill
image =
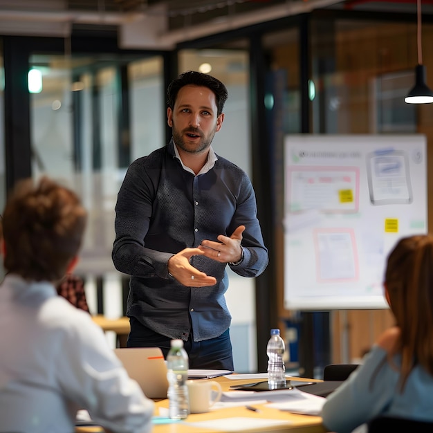
{"label": "seated person with curly brown hair and pale shirt, seen from behind", "polygon": [[78,409],[107,432],[151,431],[154,403],[129,378],[91,315],[55,289],[77,263],[85,225],[77,195],[48,178],[22,181],[6,203],[1,432],[73,432]]}

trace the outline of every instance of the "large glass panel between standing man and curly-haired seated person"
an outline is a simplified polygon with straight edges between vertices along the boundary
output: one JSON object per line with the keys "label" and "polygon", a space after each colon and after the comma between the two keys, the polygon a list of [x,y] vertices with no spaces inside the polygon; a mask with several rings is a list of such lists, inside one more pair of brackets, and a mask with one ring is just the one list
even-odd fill
{"label": "large glass panel between standing man and curly-haired seated person", "polygon": [[162,58],[33,55],[30,68],[42,77],[30,95],[33,177],[48,175],[80,194],[89,221],[76,273],[91,312],[119,317],[114,208],[132,158],[165,144]]}

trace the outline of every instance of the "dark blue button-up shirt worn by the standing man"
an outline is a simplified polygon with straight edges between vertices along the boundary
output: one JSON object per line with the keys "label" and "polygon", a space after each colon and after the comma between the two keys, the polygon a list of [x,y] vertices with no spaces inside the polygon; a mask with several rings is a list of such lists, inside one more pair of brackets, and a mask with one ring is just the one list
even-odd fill
{"label": "dark blue button-up shirt worn by the standing man", "polygon": [[246,226],[243,261],[229,266],[238,275],[256,277],[268,264],[268,250],[255,193],[242,169],[216,156],[213,167],[211,162],[195,176],[176,156],[173,140],[131,163],[118,193],[112,254],[116,268],[131,275],[127,315],[169,338],[221,335],[231,322],[224,297],[227,264],[192,257],[192,266],[215,277],[216,284],[187,287],[169,276],[167,262],[203,239],[230,237],[239,225]]}

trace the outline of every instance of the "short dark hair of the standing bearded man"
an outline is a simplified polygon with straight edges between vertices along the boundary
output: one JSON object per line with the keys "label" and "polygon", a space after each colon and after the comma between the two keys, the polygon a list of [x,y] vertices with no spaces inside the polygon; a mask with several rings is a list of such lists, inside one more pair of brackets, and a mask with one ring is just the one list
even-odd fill
{"label": "short dark hair of the standing bearded man", "polygon": [[216,80],[208,74],[203,74],[196,71],[187,71],[181,73],[175,80],[173,80],[167,88],[167,106],[174,109],[177,94],[183,86],[188,84],[192,86],[208,87],[215,95],[216,101],[216,114],[219,116],[223,112],[224,103],[228,98],[228,91],[224,84]]}

